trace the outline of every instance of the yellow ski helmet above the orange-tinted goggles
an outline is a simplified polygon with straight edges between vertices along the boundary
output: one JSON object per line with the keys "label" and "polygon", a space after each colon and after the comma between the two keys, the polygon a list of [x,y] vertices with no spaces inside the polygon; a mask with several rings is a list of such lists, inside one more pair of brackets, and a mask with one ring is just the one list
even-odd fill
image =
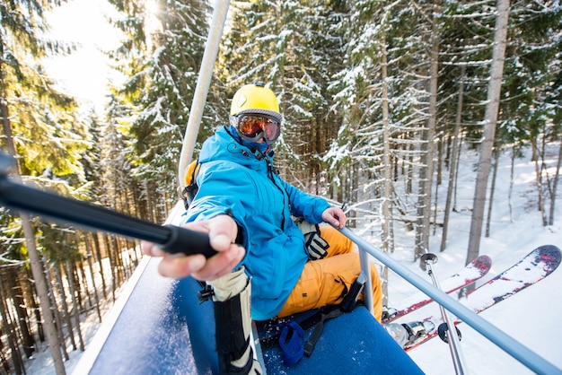
{"label": "yellow ski helmet above the orange-tinted goggles", "polygon": [[265,115],[279,124],[283,119],[275,93],[264,87],[263,83],[242,86],[233,96],[230,114],[231,117],[244,114]]}

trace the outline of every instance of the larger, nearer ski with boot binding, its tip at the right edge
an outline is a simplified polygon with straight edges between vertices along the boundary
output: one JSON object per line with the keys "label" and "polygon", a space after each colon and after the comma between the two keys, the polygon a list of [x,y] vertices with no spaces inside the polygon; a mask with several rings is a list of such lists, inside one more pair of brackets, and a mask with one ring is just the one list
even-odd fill
{"label": "larger, nearer ski with boot binding, its tip at the right edge", "polygon": [[[496,305],[496,303],[504,301],[515,293],[521,292],[532,284],[540,282],[540,280],[556,270],[561,259],[562,253],[556,246],[541,246],[531,251],[514,266],[509,267],[501,274],[487,281],[487,283],[483,283],[478,288],[461,297],[459,301],[478,314]],[[459,319],[454,322],[455,325],[459,323],[461,323]],[[410,340],[408,344],[404,344],[404,350],[409,351],[438,335],[442,336],[443,341],[446,340],[446,330],[443,329],[446,326],[443,327],[443,318],[440,315],[408,323],[407,326],[418,327],[420,324],[426,327],[426,332],[418,334],[415,340]],[[391,326],[395,325],[397,324],[395,323]],[[408,328],[404,327],[404,329]],[[442,332],[440,333],[439,331]]]}

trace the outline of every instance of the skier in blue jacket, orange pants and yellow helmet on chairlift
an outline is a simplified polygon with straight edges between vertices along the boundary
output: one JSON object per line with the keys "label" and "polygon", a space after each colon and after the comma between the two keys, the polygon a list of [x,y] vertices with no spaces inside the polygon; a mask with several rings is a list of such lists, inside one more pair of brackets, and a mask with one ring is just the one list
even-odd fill
{"label": "skier in blue jacket, orange pants and yellow helmet on chairlift", "polygon": [[[360,273],[359,256],[345,236],[317,224],[343,228],[346,214],[278,176],[272,146],[281,133],[282,115],[277,97],[263,83],[242,86],[230,115],[230,126],[219,127],[202,146],[198,192],[185,218],[186,228],[208,233],[218,254],[208,259],[171,256],[144,242],[145,254],[162,257],[159,272],[164,276],[206,281],[214,301],[222,302],[220,309],[244,313],[250,301],[243,300],[251,296],[256,320],[340,303]],[[300,230],[294,218],[309,229]],[[380,321],[382,288],[373,265],[371,276],[374,315]],[[244,331],[242,344],[250,335]],[[219,349],[219,363],[220,356]]]}

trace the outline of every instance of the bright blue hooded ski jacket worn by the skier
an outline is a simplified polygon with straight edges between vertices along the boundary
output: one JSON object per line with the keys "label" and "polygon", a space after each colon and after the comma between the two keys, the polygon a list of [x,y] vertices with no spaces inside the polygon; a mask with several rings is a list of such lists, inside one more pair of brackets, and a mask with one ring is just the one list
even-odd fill
{"label": "bright blue hooded ski jacket worn by the skier", "polygon": [[252,152],[221,126],[199,153],[198,194],[186,222],[229,214],[239,226],[251,280],[251,315],[273,318],[283,308],[308,260],[303,233],[291,217],[322,222],[329,203],[281,179],[273,153]]}

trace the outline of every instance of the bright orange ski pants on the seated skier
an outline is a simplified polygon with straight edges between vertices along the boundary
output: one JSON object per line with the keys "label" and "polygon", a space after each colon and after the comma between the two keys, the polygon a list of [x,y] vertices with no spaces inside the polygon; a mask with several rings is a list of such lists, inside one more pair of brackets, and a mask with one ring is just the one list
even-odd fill
{"label": "bright orange ski pants on the seated skier", "polygon": [[[277,317],[335,305],[343,301],[342,293],[351,288],[361,272],[359,254],[354,244],[346,236],[331,226],[321,226],[321,237],[329,244],[328,255],[319,260],[309,260],[304,265],[301,278],[294,286],[285,306]],[[371,264],[373,280],[373,311],[374,317],[382,318],[382,287],[381,278]],[[345,283],[345,286],[344,286]],[[366,292],[366,291],[364,291]]]}

